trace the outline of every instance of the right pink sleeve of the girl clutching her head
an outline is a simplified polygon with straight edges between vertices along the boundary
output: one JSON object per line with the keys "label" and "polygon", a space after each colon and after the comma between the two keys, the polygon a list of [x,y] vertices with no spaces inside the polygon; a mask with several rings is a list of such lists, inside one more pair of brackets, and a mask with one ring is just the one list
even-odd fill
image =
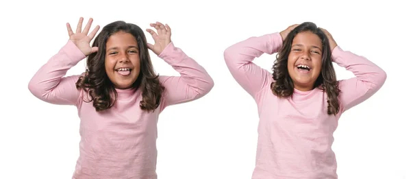
{"label": "right pink sleeve of the girl clutching her head", "polygon": [[340,106],[344,112],[374,95],[386,80],[386,73],[373,62],[350,51],[335,47],[332,58],[356,77],[340,81]]}

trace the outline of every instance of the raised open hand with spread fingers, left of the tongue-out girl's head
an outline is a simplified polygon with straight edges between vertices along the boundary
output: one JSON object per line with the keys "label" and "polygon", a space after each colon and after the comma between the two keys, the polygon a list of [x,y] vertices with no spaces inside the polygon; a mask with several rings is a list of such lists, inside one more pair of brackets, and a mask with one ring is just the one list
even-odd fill
{"label": "raised open hand with spread fingers, left of the tongue-out girl's head", "polygon": [[75,33],[73,33],[73,30],[71,29],[70,24],[66,23],[67,32],[69,32],[70,40],[80,49],[80,51],[84,53],[85,56],[88,56],[91,53],[95,53],[98,50],[97,47],[90,46],[90,41],[97,34],[100,26],[97,25],[97,27],[95,27],[95,29],[93,29],[92,32],[88,34],[88,31],[90,30],[90,27],[91,27],[91,23],[92,23],[92,18],[88,20],[88,23],[86,27],[84,27],[84,30],[82,32],[83,18],[80,17]]}

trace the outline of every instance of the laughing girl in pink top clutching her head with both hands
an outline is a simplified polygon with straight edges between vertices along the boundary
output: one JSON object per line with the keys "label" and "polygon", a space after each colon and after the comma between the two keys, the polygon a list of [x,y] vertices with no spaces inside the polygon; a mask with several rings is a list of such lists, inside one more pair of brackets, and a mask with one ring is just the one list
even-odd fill
{"label": "laughing girl in pink top clutching her head with both hands", "polygon": [[[252,61],[277,53],[273,73]],[[382,87],[386,73],[343,51],[314,23],[251,37],[224,52],[234,79],[258,106],[258,147],[252,178],[337,178],[332,151],[338,119]],[[336,80],[333,63],[356,77]]]}

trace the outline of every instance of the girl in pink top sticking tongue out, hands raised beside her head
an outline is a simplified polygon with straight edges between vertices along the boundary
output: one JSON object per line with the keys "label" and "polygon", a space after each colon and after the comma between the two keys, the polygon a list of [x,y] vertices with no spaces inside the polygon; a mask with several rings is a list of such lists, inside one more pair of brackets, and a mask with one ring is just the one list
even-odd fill
{"label": "girl in pink top sticking tongue out, hands raised beside her head", "polygon": [[[207,71],[171,42],[171,29],[152,23],[155,43],[132,23],[116,21],[90,33],[92,19],[75,32],[67,23],[69,41],[29,82],[29,91],[51,104],[73,105],[80,118],[79,158],[73,178],[157,178],[157,121],[174,104],[191,102],[211,91]],[[149,51],[181,76],[156,75]],[[81,75],[64,77],[87,57]]]}

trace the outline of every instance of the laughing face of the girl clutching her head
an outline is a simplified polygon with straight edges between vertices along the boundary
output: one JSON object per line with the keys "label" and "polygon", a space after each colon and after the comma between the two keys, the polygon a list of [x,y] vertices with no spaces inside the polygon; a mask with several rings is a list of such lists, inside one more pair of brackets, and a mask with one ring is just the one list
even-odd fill
{"label": "laughing face of the girl clutching her head", "polygon": [[321,39],[312,32],[300,32],[292,40],[287,67],[297,90],[312,90],[321,72],[322,51]]}

